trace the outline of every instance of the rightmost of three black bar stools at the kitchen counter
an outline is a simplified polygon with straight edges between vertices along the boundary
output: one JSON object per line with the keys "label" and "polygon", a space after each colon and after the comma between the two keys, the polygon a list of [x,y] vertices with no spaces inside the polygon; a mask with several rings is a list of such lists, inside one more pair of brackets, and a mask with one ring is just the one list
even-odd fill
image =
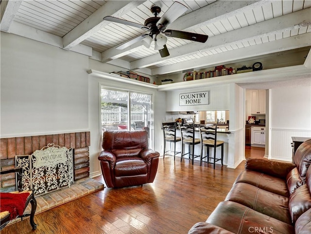
{"label": "rightmost of three black bar stools at the kitchen counter", "polygon": [[[201,127],[200,128],[200,135],[201,135],[201,158],[200,158],[200,166],[202,166],[202,162],[212,163],[214,164],[215,169],[215,163],[220,161],[223,164],[224,160],[224,141],[218,141],[217,140],[217,125],[215,128],[212,127]],[[221,158],[216,158],[216,149],[217,147],[221,146]],[[203,157],[203,147],[207,147],[207,155]],[[214,157],[210,157],[209,155],[209,147],[214,148]],[[207,158],[207,161],[203,161],[203,159]],[[213,162],[209,162],[209,159],[213,159]]]}

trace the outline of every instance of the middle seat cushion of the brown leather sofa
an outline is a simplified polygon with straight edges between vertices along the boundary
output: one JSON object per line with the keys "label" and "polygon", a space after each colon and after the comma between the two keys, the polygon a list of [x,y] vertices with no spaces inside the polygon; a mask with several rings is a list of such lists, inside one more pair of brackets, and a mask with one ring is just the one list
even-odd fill
{"label": "middle seat cushion of the brown leather sofa", "polygon": [[262,214],[292,224],[288,200],[287,197],[245,183],[234,184],[225,198],[225,201],[238,202]]}

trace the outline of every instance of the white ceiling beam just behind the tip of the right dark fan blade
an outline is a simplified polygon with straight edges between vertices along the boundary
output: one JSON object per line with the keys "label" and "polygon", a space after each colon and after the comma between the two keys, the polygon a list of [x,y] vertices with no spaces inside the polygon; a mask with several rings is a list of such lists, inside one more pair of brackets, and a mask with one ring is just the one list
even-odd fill
{"label": "white ceiling beam just behind the tip of the right dark fan blade", "polygon": [[203,52],[207,50],[214,50],[230,46],[232,43],[245,42],[252,39],[255,40],[272,33],[282,33],[284,31],[304,27],[306,24],[310,24],[310,15],[311,8],[307,8],[292,14],[272,18],[237,30],[212,36],[207,39],[206,43],[193,42],[173,50],[169,50],[170,56],[165,58],[161,58],[158,54],[154,54],[149,57],[133,61],[131,62],[131,69],[149,67],[169,61],[173,58],[191,55],[198,51]]}

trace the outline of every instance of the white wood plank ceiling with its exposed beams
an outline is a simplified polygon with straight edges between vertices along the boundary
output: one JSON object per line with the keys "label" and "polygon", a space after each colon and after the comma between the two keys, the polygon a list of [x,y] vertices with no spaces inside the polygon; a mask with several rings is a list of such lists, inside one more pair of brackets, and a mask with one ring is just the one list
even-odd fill
{"label": "white wood plank ceiling with its exposed beams", "polygon": [[311,46],[311,0],[179,0],[187,12],[168,29],[207,34],[206,43],[168,37],[170,56],[153,44],[115,47],[146,31],[103,20],[119,17],[139,24],[161,17],[173,0],[1,0],[1,31],[118,64],[150,75],[215,66],[277,51]]}

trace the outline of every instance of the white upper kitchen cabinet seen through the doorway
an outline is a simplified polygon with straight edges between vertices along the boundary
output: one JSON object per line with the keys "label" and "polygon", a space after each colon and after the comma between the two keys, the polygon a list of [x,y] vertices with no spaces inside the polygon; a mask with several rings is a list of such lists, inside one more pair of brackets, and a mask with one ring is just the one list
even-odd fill
{"label": "white upper kitchen cabinet seen through the doorway", "polygon": [[251,90],[251,114],[266,114],[266,90]]}

